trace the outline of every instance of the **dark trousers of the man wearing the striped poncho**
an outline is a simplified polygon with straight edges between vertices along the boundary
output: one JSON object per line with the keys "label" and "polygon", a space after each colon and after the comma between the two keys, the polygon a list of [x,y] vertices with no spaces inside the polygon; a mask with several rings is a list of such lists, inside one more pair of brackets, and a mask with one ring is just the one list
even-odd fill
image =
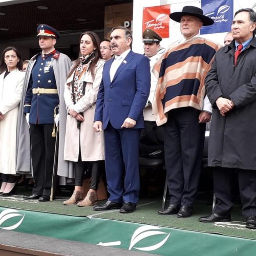
{"label": "dark trousers of the man wearing the striped poncho", "polygon": [[164,154],[170,204],[192,206],[200,178],[205,123],[200,111],[179,108],[168,112],[164,126]]}

